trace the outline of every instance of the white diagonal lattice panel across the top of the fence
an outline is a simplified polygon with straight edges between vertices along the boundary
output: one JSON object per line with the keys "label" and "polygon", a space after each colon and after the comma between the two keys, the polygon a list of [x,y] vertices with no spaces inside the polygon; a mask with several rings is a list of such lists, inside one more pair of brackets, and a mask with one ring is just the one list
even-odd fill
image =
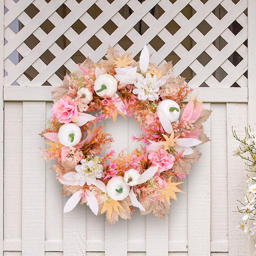
{"label": "white diagonal lattice panel across the top of the fence", "polygon": [[[17,3],[15,3],[17,2]],[[247,87],[247,0],[5,0],[4,85],[58,86],[108,45],[173,60],[191,87]]]}

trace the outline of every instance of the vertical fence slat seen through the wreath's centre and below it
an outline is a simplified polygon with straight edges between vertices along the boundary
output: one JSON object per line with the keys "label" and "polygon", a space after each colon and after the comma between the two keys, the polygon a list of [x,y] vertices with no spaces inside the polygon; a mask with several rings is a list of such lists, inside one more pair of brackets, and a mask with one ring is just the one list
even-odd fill
{"label": "vertical fence slat seen through the wreath's centre and below it", "polygon": [[[118,115],[115,124],[112,119],[106,120],[106,124],[106,132],[115,140],[110,149],[119,154],[122,149],[127,149],[128,120]],[[113,226],[107,220],[105,222],[105,256],[112,256],[113,253],[115,256],[127,255],[127,220],[120,217]]]}

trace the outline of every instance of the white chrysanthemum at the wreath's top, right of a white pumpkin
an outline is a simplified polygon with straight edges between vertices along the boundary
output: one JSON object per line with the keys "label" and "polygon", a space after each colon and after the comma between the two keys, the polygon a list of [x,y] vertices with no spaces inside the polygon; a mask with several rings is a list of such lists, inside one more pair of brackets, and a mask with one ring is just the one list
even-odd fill
{"label": "white chrysanthemum at the wreath's top, right of a white pumpkin", "polygon": [[160,86],[163,85],[166,80],[157,80],[156,75],[151,76],[151,74],[146,74],[146,78],[142,75],[138,76],[138,81],[134,83],[136,89],[132,92],[134,94],[138,94],[139,100],[157,100],[158,94],[156,92],[159,91]]}

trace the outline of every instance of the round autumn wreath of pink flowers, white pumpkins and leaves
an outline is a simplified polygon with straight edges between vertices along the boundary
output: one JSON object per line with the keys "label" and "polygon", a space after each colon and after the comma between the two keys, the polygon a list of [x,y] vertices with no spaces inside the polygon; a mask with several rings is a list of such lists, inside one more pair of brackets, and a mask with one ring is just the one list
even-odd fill
{"label": "round autumn wreath of pink flowers, white pumpkins and leaves", "polygon": [[[196,98],[185,105],[192,89],[173,76],[172,62],[161,68],[150,63],[146,46],[139,62],[110,46],[106,58],[87,58],[52,91],[52,117],[41,134],[49,148],[42,154],[57,160],[52,170],[63,184],[62,195],[72,194],[64,212],[81,202],[95,215],[106,212],[110,224],[118,216],[130,219],[133,207],[164,218],[190,164],[201,156],[195,146],[209,140],[202,123],[211,111]],[[102,156],[113,139],[98,123],[115,122],[117,115],[134,117],[141,134],[132,138],[144,145],[117,158],[114,150]]]}

